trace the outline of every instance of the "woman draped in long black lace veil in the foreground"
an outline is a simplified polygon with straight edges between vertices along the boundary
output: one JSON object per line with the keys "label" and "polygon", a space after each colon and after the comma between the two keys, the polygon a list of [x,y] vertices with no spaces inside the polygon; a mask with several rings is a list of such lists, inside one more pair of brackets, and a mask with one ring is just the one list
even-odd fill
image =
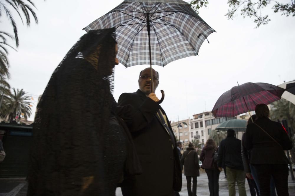
{"label": "woman draped in long black lace veil in the foreground", "polygon": [[114,28],[89,31],[55,69],[37,106],[27,195],[115,195],[130,147],[112,96],[116,52]]}

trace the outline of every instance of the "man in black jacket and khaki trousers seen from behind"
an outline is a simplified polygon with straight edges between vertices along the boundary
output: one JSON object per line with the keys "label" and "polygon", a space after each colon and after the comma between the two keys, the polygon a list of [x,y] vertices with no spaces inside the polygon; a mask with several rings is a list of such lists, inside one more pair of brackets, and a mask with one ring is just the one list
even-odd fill
{"label": "man in black jacket and khaki trousers seen from behind", "polygon": [[222,167],[226,169],[229,196],[236,195],[236,182],[239,189],[239,196],[246,196],[246,175],[242,162],[241,150],[242,142],[235,138],[235,130],[227,130],[227,137],[220,142],[217,165],[220,171]]}

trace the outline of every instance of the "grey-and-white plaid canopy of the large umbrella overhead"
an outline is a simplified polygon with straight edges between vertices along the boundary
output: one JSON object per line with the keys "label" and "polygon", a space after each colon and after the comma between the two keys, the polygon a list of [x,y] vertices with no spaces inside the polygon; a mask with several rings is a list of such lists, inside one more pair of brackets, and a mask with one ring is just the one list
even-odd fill
{"label": "grey-and-white plaid canopy of the large umbrella overhead", "polygon": [[203,41],[214,32],[181,0],[125,0],[84,30],[115,27],[119,62],[126,67],[150,64],[147,14],[153,65],[198,55]]}

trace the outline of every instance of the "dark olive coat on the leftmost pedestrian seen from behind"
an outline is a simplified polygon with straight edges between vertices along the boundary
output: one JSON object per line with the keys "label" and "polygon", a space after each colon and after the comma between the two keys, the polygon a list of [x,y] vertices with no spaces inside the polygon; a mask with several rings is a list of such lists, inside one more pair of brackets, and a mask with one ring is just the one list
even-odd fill
{"label": "dark olive coat on the leftmost pedestrian seen from behind", "polygon": [[186,176],[200,176],[198,153],[194,148],[186,148],[180,162],[184,165],[184,175]]}

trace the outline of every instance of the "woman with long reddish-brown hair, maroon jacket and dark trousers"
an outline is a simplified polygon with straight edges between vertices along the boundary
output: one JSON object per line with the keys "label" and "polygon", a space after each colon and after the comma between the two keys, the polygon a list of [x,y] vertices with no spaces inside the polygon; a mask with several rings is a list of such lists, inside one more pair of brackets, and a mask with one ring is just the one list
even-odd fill
{"label": "woman with long reddish-brown hair, maroon jacket and dark trousers", "polygon": [[217,162],[214,160],[214,153],[216,152],[217,147],[212,139],[208,139],[205,147],[203,148],[200,160],[202,161],[201,168],[205,169],[205,172],[208,176],[208,186],[210,196],[219,195],[219,174],[220,171],[217,167]]}

